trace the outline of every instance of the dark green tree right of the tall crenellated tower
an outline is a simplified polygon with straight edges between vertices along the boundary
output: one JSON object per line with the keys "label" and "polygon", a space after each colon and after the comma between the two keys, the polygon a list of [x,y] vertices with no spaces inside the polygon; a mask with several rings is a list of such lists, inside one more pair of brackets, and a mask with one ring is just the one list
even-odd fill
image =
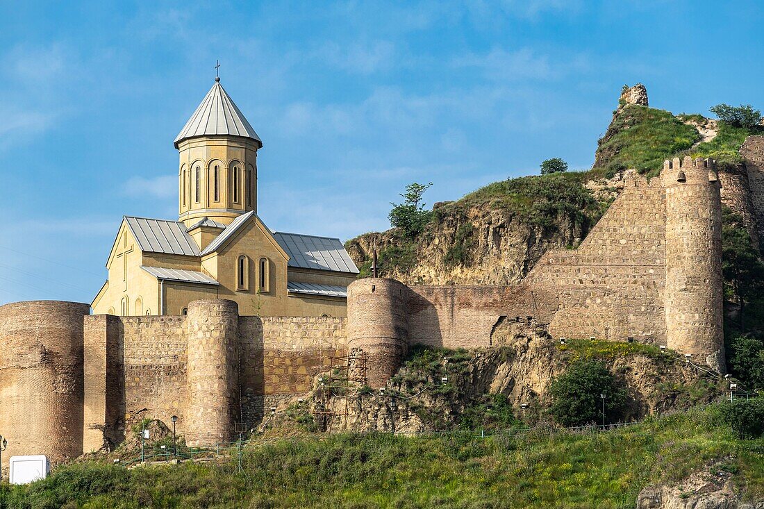
{"label": "dark green tree right of the tall crenellated tower", "polygon": [[725,290],[740,304],[742,326],[744,307],[764,290],[764,263],[743,225],[743,218],[727,206],[722,209],[721,238]]}

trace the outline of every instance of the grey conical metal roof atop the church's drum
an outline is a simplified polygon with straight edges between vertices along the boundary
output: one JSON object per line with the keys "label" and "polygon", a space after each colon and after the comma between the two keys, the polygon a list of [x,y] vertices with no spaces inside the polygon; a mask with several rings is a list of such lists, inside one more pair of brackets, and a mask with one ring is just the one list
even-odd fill
{"label": "grey conical metal roof atop the church's drum", "polygon": [[178,148],[180,141],[188,138],[220,135],[252,138],[261,147],[263,146],[260,137],[225,92],[219,79],[215,79],[215,85],[212,85],[199,108],[191,115],[175,138],[175,148]]}

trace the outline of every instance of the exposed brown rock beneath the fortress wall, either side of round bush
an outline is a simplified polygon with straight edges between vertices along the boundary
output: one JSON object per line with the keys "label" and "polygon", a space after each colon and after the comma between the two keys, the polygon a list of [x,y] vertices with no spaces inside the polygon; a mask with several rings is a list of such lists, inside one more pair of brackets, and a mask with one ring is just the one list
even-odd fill
{"label": "exposed brown rock beneath the fortress wall, either side of round bush", "polygon": [[[492,342],[494,348],[473,350],[459,364],[452,361],[427,372],[403,368],[387,383],[384,395],[377,391],[343,394],[318,384],[306,400],[306,411],[322,416],[319,425],[329,431],[397,432],[448,429],[484,394],[504,394],[513,407],[525,403],[531,406],[529,412],[538,411],[552,380],[575,357],[535,322],[525,319],[497,323]],[[689,393],[676,390],[700,380],[684,362],[643,353],[616,354],[604,362],[629,388],[626,421],[697,403],[688,399]],[[453,387],[444,390],[442,377]],[[707,398],[712,397],[714,391],[709,391]]]}

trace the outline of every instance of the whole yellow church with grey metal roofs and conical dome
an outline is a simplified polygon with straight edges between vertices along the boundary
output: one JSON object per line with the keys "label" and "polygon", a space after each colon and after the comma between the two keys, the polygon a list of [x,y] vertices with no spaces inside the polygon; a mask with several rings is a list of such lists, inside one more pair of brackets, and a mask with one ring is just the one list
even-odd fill
{"label": "whole yellow church with grey metal roofs and conical dome", "polygon": [[263,142],[220,78],[175,138],[178,220],[128,217],[95,314],[185,315],[228,299],[256,316],[347,316],[358,268],[338,238],[275,232],[257,215]]}

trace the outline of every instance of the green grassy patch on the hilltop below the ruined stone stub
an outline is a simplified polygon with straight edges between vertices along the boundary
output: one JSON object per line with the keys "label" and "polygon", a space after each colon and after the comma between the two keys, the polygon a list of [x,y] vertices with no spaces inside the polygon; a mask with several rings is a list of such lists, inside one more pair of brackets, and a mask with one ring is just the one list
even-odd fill
{"label": "green grassy patch on the hilltop below the ruined stone stub", "polygon": [[626,168],[647,173],[662,167],[663,160],[686,151],[700,141],[698,130],[672,112],[628,105],[610,124],[597,148],[597,167],[606,177]]}

